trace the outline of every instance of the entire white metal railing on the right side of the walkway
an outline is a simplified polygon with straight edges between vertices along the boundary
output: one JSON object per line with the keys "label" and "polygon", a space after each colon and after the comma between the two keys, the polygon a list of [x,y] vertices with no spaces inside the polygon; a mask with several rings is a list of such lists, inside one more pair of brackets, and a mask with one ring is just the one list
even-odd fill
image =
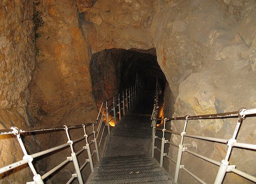
{"label": "entire white metal railing on the right side of the walkway", "polygon": [[[181,165],[183,152],[187,152],[187,153],[197,156],[209,163],[219,166],[219,170],[218,170],[218,173],[215,178],[215,184],[221,184],[223,182],[226,172],[233,172],[233,173],[236,173],[237,175],[240,175],[241,177],[244,177],[244,178],[247,178],[248,180],[256,182],[256,177],[249,175],[249,174],[247,174],[243,171],[240,171],[238,169],[235,169],[235,165],[229,165],[230,153],[231,153],[233,147],[239,147],[241,149],[250,149],[250,150],[256,151],[256,144],[238,143],[236,140],[237,134],[239,132],[239,127],[243,121],[243,118],[248,117],[248,115],[250,115],[250,116],[253,115],[255,117],[256,109],[248,109],[247,110],[245,108],[242,108],[238,112],[227,112],[227,113],[209,114],[209,115],[201,115],[201,116],[188,116],[187,115],[184,117],[177,117],[177,118],[156,119],[156,117],[157,117],[157,108],[156,107],[158,107],[158,94],[159,94],[158,91],[156,91],[155,104],[154,104],[154,109],[153,109],[152,116],[151,116],[151,120],[152,120],[152,157],[154,157],[154,150],[156,149],[157,151],[160,151],[160,167],[163,166],[164,156],[166,156],[169,160],[171,160],[173,163],[176,164],[174,183],[178,182],[179,171],[180,171],[180,169],[183,169],[184,171],[186,171],[186,173],[188,173],[189,175],[194,177],[196,180],[205,184],[205,182],[201,178],[199,178],[198,176],[196,176],[192,172],[190,172],[188,169],[186,169],[185,165]],[[233,132],[233,136],[229,140],[186,133],[186,127],[188,126],[188,120],[202,120],[202,119],[207,120],[207,119],[223,119],[223,118],[236,118],[236,117],[238,118],[237,124],[236,124],[235,130]],[[163,129],[156,128],[156,121],[160,121],[160,120],[164,120],[164,128]],[[176,120],[185,120],[183,132],[174,132],[174,131],[166,130],[166,122],[167,121],[176,121]],[[163,132],[162,139],[158,138],[158,136],[156,136],[156,131]],[[164,134],[165,132],[170,133],[170,134],[180,135],[181,136],[180,144],[176,145],[174,142],[165,140],[165,134]],[[206,156],[203,156],[203,155],[200,155],[193,151],[190,151],[187,147],[184,147],[184,144],[183,144],[184,137],[227,144],[228,150],[226,152],[226,157],[221,162],[218,162],[218,161],[208,158]],[[158,149],[157,146],[155,146],[156,139],[162,141],[161,149]],[[168,156],[167,153],[164,153],[164,145],[166,143],[178,148],[176,160],[173,160],[173,158]]]}

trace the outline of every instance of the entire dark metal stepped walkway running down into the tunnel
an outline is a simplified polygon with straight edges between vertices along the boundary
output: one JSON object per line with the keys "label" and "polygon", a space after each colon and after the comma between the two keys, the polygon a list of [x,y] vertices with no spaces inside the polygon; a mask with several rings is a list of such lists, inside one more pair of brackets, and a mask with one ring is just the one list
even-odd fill
{"label": "entire dark metal stepped walkway running down into the tunnel", "polygon": [[88,184],[172,184],[149,156],[154,91],[142,90],[107,142],[104,158]]}

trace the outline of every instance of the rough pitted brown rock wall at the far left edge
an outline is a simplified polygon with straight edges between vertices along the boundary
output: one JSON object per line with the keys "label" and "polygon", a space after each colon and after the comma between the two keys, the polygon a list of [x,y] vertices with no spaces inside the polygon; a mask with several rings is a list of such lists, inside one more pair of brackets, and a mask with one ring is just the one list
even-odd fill
{"label": "rough pitted brown rock wall at the far left edge", "polygon": [[[35,64],[33,7],[30,0],[0,2],[0,129],[30,127],[26,107]],[[11,136],[1,136],[0,150],[0,167],[23,157]],[[23,183],[24,178],[31,178],[29,170],[19,167],[1,174],[0,183]]]}

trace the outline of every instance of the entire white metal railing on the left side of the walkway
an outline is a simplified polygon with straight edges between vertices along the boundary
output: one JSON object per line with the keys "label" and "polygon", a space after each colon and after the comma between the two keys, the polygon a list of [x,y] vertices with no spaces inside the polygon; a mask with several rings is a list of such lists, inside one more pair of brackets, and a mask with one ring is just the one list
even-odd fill
{"label": "entire white metal railing on the left side of the walkway", "polygon": [[[139,80],[139,81],[138,81]],[[94,172],[94,166],[93,166],[93,162],[92,162],[92,156],[97,155],[97,160],[100,160],[100,156],[99,156],[99,151],[98,151],[98,147],[100,147],[101,143],[102,143],[102,138],[104,135],[104,131],[105,131],[105,127],[108,127],[108,133],[110,134],[109,131],[109,122],[114,119],[115,120],[115,124],[117,123],[116,120],[116,116],[119,115],[119,120],[121,119],[121,116],[125,115],[125,112],[131,108],[131,106],[133,105],[133,103],[135,103],[135,101],[137,100],[137,88],[142,88],[143,83],[142,80],[136,76],[136,85],[131,86],[130,88],[120,92],[119,94],[113,96],[113,98],[107,99],[104,102],[102,102],[100,110],[98,112],[98,116],[96,118],[96,121],[94,123],[87,123],[87,124],[80,124],[80,125],[63,125],[60,127],[38,127],[38,128],[26,128],[26,129],[19,129],[17,127],[11,127],[10,129],[2,129],[0,130],[0,135],[14,135],[16,136],[21,149],[23,151],[23,159],[19,160],[18,162],[9,164],[8,166],[4,166],[2,168],[0,168],[0,173],[4,173],[6,171],[9,171],[11,169],[14,169],[15,167],[19,167],[21,165],[24,164],[28,164],[28,166],[30,167],[30,170],[32,171],[34,177],[33,177],[33,182],[27,182],[28,184],[43,184],[43,179],[47,178],[49,175],[53,174],[55,171],[57,171],[58,169],[60,169],[61,167],[63,167],[65,164],[67,164],[68,162],[72,161],[75,167],[75,171],[72,174],[72,177],[68,180],[67,183],[71,183],[73,181],[74,178],[77,177],[79,184],[83,183],[83,178],[81,176],[81,170],[83,169],[83,167],[85,167],[87,165],[87,163],[90,164],[90,168],[91,168],[91,172]],[[111,104],[109,104],[108,106],[108,102],[111,101],[113,99],[113,102]],[[108,108],[110,108],[111,106],[113,106],[112,110],[108,110]],[[118,108],[117,108],[118,107]],[[110,113],[113,112],[113,118],[109,118]],[[107,118],[107,124],[102,128],[102,124],[104,121],[104,117]],[[109,120],[110,119],[110,120]],[[94,130],[94,125],[98,124],[98,128],[95,131]],[[92,132],[87,134],[85,127],[87,126],[92,126]],[[78,128],[83,128],[84,130],[84,134],[82,137],[77,138],[75,140],[71,140],[70,139],[70,135],[68,130],[69,129],[78,129]],[[102,131],[101,131],[102,129]],[[68,142],[65,144],[61,144],[61,145],[57,145],[55,147],[51,147],[49,149],[43,150],[43,151],[39,151],[37,153],[33,153],[31,155],[28,155],[26,148],[24,146],[24,142],[21,139],[21,134],[27,135],[27,133],[29,132],[52,132],[52,131],[65,131],[66,132],[66,136],[68,138]],[[99,145],[97,143],[97,139],[98,136],[101,134],[100,136],[100,142]],[[89,136],[94,136],[93,140],[91,140],[92,142],[88,142],[88,137]],[[83,146],[79,151],[77,151],[75,153],[74,148],[73,148],[73,144],[79,141],[85,140],[85,146]],[[90,151],[90,145],[95,144],[95,150],[93,150],[93,152],[91,153]],[[58,151],[64,147],[68,147],[70,146],[71,149],[71,156],[68,156],[66,160],[62,161],[60,164],[58,164],[57,166],[55,166],[53,169],[51,169],[50,171],[48,171],[47,173],[45,173],[44,175],[40,176],[36,169],[34,168],[33,165],[33,159],[37,158],[39,156],[43,156],[46,155],[48,153],[52,153],[53,151]],[[82,153],[83,151],[87,150],[87,156],[88,159],[85,160],[85,163],[79,167],[78,161],[77,161],[77,156]]]}

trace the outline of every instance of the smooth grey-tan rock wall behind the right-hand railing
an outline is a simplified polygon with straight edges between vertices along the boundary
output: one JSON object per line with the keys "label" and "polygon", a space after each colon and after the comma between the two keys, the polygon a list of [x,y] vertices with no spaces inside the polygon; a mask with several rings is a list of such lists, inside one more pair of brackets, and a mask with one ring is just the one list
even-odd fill
{"label": "smooth grey-tan rock wall behind the right-hand railing", "polygon": [[[174,114],[185,116],[255,108],[255,1],[170,1],[154,17],[151,32],[162,68],[175,102]],[[165,105],[167,103],[165,102]],[[229,139],[236,119],[189,121],[187,133]],[[172,122],[173,131],[182,131],[184,122]],[[247,118],[240,128],[239,142],[254,143],[255,123]],[[172,135],[179,144],[179,137]],[[227,146],[199,140],[185,140],[190,150],[221,161]],[[175,158],[177,150],[169,149]],[[218,167],[186,153],[182,160],[189,170],[207,183],[215,180]],[[253,151],[234,149],[230,164],[255,175]],[[200,163],[201,162],[201,163]],[[173,175],[173,164],[169,166]],[[249,169],[250,168],[250,169]],[[206,170],[212,170],[207,173]],[[181,172],[180,183],[195,182]],[[174,175],[173,175],[174,176]],[[249,182],[228,173],[224,183]]]}

